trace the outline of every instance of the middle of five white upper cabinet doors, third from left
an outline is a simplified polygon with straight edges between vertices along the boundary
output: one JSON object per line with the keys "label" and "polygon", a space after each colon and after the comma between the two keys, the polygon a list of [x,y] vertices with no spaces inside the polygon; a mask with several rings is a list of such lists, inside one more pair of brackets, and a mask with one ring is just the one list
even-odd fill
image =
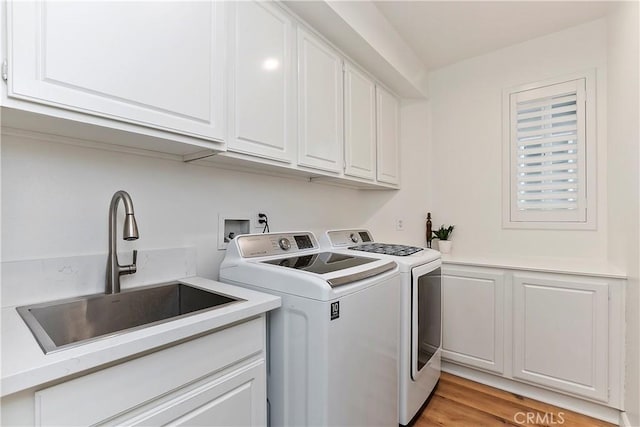
{"label": "middle of five white upper cabinet doors, third from left", "polygon": [[298,29],[298,164],[340,173],[342,59],[328,45]]}

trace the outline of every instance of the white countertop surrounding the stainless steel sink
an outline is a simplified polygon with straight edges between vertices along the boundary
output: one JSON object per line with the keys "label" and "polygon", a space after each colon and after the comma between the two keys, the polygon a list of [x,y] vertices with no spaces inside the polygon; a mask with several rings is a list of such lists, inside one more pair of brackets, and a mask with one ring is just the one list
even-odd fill
{"label": "white countertop surrounding the stainless steel sink", "polygon": [[280,307],[280,298],[200,277],[179,282],[245,299],[45,355],[15,307],[2,309],[1,396],[128,358]]}

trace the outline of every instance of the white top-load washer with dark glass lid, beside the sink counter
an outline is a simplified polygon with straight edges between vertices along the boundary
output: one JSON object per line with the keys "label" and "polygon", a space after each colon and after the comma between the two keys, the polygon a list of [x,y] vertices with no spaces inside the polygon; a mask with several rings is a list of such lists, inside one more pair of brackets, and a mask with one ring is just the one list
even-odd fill
{"label": "white top-load washer with dark glass lid, beside the sink counter", "polygon": [[400,273],[310,232],[233,239],[220,280],[282,298],[268,316],[272,426],[396,426]]}

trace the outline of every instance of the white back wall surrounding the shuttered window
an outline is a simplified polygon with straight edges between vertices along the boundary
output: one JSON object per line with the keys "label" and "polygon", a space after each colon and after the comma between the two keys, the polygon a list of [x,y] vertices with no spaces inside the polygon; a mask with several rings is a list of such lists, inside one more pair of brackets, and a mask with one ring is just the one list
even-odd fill
{"label": "white back wall surrounding the shuttered window", "polygon": [[[606,259],[606,47],[606,22],[598,20],[430,75],[434,226],[455,224],[455,256]],[[502,229],[502,90],[593,68],[599,100],[598,229]]]}

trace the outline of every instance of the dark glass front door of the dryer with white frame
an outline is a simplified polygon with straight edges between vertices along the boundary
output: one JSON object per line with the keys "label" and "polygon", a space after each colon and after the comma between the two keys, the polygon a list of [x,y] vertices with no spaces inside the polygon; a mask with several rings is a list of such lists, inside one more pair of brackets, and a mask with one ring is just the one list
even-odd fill
{"label": "dark glass front door of the dryer with white frame", "polygon": [[411,378],[414,381],[441,347],[440,266],[438,260],[411,271]]}

